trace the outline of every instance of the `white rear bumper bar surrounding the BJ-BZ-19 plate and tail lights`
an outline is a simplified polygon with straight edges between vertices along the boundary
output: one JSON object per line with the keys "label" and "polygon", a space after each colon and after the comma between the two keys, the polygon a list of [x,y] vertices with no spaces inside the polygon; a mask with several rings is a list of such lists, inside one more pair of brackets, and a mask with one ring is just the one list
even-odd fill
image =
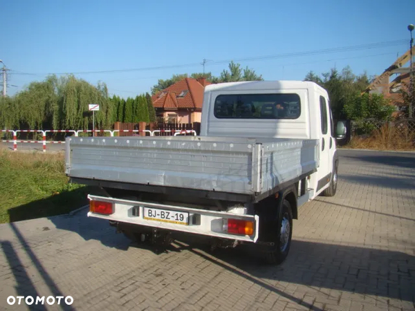
{"label": "white rear bumper bar surrounding the BJ-BZ-19 plate and tail lights", "polygon": [[[188,234],[202,234],[204,236],[214,236],[216,238],[229,238],[237,241],[256,242],[259,235],[259,216],[232,214],[224,211],[208,211],[205,209],[192,209],[176,205],[163,205],[158,203],[140,202],[133,200],[122,200],[117,198],[107,198],[102,196],[88,196],[89,200],[99,200],[113,203],[114,212],[111,215],[96,214],[89,211],[89,217],[102,218],[120,223],[129,223],[145,227],[156,227],[165,230],[186,232]],[[169,211],[182,211],[189,213],[189,225],[179,225],[175,223],[164,223],[157,220],[147,220],[143,217],[143,209],[165,209]],[[248,220],[254,223],[253,234],[239,235],[224,232],[223,222],[229,218]]]}

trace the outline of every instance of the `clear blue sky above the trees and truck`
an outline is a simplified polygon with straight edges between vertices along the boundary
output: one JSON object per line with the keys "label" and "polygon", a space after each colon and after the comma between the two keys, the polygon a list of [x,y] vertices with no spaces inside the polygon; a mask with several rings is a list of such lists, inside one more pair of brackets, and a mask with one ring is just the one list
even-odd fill
{"label": "clear blue sky above the trees and truck", "polygon": [[[0,59],[12,95],[47,73],[199,64],[219,75],[227,59],[280,55],[407,39],[407,44],[302,57],[239,62],[264,79],[304,79],[309,70],[351,66],[382,73],[409,48],[415,1],[1,1]],[[415,34],[414,34],[415,35]],[[157,79],[201,72],[201,65],[77,74],[122,97],[150,91]],[[22,73],[33,73],[26,75]]]}

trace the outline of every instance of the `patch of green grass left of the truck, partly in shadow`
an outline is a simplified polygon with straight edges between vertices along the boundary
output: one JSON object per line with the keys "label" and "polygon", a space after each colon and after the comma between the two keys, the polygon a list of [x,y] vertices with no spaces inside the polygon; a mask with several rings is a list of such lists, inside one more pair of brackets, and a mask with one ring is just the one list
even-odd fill
{"label": "patch of green grass left of the truck, partly in shadow", "polygon": [[66,214],[88,193],[68,183],[63,154],[0,150],[0,223]]}

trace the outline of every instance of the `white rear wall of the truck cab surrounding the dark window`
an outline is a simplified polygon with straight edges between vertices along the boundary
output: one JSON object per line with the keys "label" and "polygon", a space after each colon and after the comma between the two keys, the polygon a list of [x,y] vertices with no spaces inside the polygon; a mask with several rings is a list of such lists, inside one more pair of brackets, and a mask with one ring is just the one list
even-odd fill
{"label": "white rear wall of the truck cab surrounding the dark window", "polygon": [[[225,94],[272,94],[296,93],[299,95],[303,111],[296,118],[287,119],[257,119],[257,118],[217,118],[214,115],[216,95]],[[249,81],[210,84],[205,87],[203,100],[202,136],[232,136],[232,137],[261,137],[261,138],[292,138],[310,139],[311,122],[320,115],[315,115],[315,109],[310,105],[320,106],[318,95],[328,98],[326,90],[309,81]],[[310,115],[313,113],[313,115]],[[320,126],[320,125],[319,125]]]}

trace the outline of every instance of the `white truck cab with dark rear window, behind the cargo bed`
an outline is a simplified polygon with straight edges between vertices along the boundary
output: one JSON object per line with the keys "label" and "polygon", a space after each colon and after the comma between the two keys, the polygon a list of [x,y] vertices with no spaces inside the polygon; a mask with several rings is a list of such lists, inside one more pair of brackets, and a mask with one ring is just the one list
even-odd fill
{"label": "white truck cab with dark rear window, behind the cargo bed", "polygon": [[[329,95],[314,82],[255,81],[205,87],[201,136],[318,140],[315,196],[334,195],[338,156]],[[331,183],[331,185],[330,185]]]}

